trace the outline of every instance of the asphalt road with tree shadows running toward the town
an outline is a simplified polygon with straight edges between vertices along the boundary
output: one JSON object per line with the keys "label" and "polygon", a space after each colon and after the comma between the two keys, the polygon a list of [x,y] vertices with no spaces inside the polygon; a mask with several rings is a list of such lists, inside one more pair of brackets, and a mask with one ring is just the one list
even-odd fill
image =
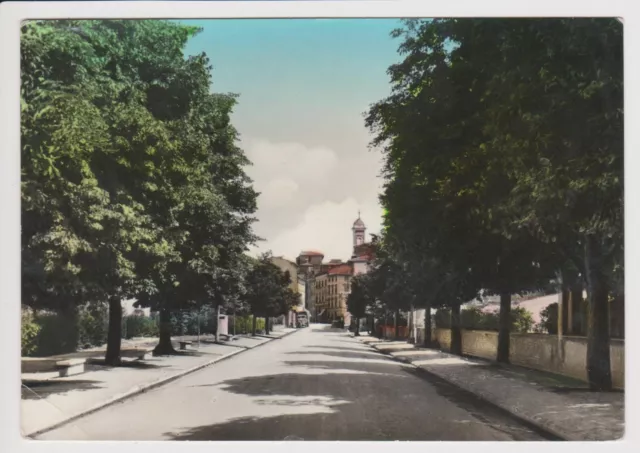
{"label": "asphalt road with tree shadows running toward the town", "polygon": [[311,326],[43,440],[544,440],[344,331]]}

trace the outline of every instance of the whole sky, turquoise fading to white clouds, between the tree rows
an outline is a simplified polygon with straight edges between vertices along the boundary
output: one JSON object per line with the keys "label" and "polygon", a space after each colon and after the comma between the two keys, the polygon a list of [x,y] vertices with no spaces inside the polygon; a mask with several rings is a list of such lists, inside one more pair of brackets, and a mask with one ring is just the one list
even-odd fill
{"label": "whole sky, turquoise fading to white clouds, between the tree rows", "polygon": [[206,52],[216,92],[240,95],[234,125],[262,192],[260,250],[295,257],[351,252],[358,209],[369,231],[381,222],[380,155],[367,149],[367,107],[389,93],[399,60],[397,19],[182,21],[201,27],[186,53]]}

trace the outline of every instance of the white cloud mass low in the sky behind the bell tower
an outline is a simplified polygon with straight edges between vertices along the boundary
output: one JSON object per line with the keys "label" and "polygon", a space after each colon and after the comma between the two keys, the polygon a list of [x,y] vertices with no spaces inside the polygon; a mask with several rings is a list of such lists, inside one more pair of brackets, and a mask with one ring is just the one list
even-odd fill
{"label": "white cloud mass low in the sky behind the bell tower", "polygon": [[303,249],[348,259],[358,210],[368,233],[378,233],[382,210],[379,157],[366,143],[338,153],[326,146],[246,140],[247,173],[261,195],[256,233],[266,239],[252,254],[271,250],[293,259]]}

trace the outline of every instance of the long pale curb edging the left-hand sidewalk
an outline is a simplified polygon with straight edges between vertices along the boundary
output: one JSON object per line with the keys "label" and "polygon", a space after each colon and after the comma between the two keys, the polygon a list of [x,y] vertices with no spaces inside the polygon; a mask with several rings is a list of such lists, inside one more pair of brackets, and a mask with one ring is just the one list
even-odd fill
{"label": "long pale curb edging the left-hand sidewalk", "polygon": [[215,358],[213,360],[210,360],[209,362],[202,363],[202,364],[196,365],[196,366],[194,366],[192,368],[188,368],[186,370],[180,371],[180,372],[178,372],[176,374],[173,374],[171,376],[167,376],[167,377],[164,377],[164,378],[157,379],[157,380],[152,381],[152,382],[150,382],[148,384],[142,384],[142,385],[133,387],[131,390],[129,390],[129,391],[125,392],[125,393],[122,393],[120,395],[116,395],[116,396],[114,396],[114,397],[112,397],[112,398],[110,398],[110,399],[108,399],[108,400],[106,400],[106,401],[104,401],[102,403],[98,403],[97,405],[95,405],[95,406],[93,406],[93,407],[91,407],[89,409],[83,410],[81,412],[78,412],[78,413],[70,416],[70,417],[67,417],[64,420],[56,422],[56,423],[54,423],[52,425],[49,425],[49,426],[47,426],[45,428],[40,428],[39,430],[33,431],[33,432],[29,433],[29,434],[23,434],[23,437],[25,437],[25,438],[27,438],[29,440],[35,440],[34,437],[36,437],[36,436],[40,436],[42,434],[48,433],[50,431],[53,431],[54,429],[61,428],[62,426],[68,425],[69,423],[74,422],[74,421],[76,421],[76,420],[78,420],[80,418],[86,417],[87,415],[91,415],[94,412],[98,412],[98,411],[100,411],[102,409],[105,409],[105,408],[107,408],[109,406],[113,406],[114,404],[122,402],[122,401],[124,401],[126,399],[129,399],[129,398],[132,398],[134,396],[137,396],[137,395],[140,395],[142,393],[145,393],[148,390],[152,390],[152,389],[160,387],[160,386],[162,386],[164,384],[168,384],[169,382],[172,382],[172,381],[175,381],[177,379],[180,379],[180,378],[182,378],[182,377],[184,377],[184,376],[186,376],[188,374],[195,373],[196,371],[200,371],[201,369],[207,368],[207,367],[209,367],[211,365],[215,365],[218,362],[222,362],[222,361],[224,361],[226,359],[229,359],[229,358],[231,358],[231,357],[233,357],[235,355],[241,354],[241,353],[243,353],[245,351],[251,351],[253,349],[259,348],[260,346],[264,346],[265,344],[271,343],[274,340],[281,340],[284,337],[288,337],[289,335],[292,335],[292,334],[297,333],[299,331],[300,331],[300,329],[296,329],[296,330],[294,330],[292,332],[287,332],[287,333],[285,333],[284,335],[282,335],[282,336],[280,336],[278,338],[271,338],[271,339],[269,339],[267,341],[264,341],[264,342],[262,342],[262,343],[260,343],[260,344],[258,344],[256,346],[252,346],[252,347],[246,348],[246,349],[238,349],[237,351],[232,351],[229,354],[223,355],[221,357],[217,357],[217,358]]}

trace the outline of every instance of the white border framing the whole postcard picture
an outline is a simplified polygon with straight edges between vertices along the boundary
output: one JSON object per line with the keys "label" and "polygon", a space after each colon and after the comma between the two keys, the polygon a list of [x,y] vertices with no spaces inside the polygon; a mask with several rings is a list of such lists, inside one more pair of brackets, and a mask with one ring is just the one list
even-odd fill
{"label": "white border framing the whole postcard picture", "polygon": [[[621,17],[625,24],[625,190],[626,190],[626,377],[629,383],[627,397],[627,429],[624,441],[610,443],[574,443],[551,445],[530,443],[452,442],[446,446],[438,444],[404,443],[395,444],[402,450],[424,448],[446,448],[491,450],[492,452],[537,451],[538,449],[559,450],[577,447],[581,451],[607,449],[611,452],[636,450],[638,447],[638,330],[632,324],[640,320],[640,266],[630,259],[640,254],[637,234],[638,161],[640,158],[640,132],[638,125],[640,83],[640,17],[637,0],[458,0],[458,1],[313,1],[313,2],[28,2],[0,4],[0,209],[2,223],[0,232],[0,300],[3,302],[0,314],[0,345],[3,350],[0,363],[0,439],[7,451],[62,451],[82,452],[87,448],[94,451],[110,451],[115,448],[135,448],[154,453],[174,452],[176,448],[210,452],[224,451],[264,451],[264,443],[244,442],[27,442],[19,435],[20,395],[19,378],[19,299],[20,299],[20,162],[19,162],[19,26],[25,19],[35,18],[251,18],[251,17],[543,17],[543,16],[608,16]],[[634,278],[635,277],[635,278]],[[629,347],[631,345],[631,347]],[[636,444],[633,448],[632,444]],[[390,448],[385,443],[367,442],[354,446],[345,443],[306,442],[302,446],[291,442],[268,445],[269,450],[294,452],[300,448],[308,452],[326,452],[330,449],[352,451],[360,448],[366,451],[383,451]]]}

